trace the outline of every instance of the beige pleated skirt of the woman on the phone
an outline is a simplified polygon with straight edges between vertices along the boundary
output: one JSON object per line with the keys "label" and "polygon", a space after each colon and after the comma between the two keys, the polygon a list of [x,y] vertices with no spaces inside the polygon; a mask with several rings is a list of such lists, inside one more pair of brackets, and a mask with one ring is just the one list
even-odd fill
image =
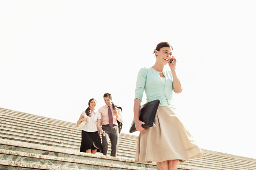
{"label": "beige pleated skirt of the woman on the phone", "polygon": [[140,132],[135,162],[163,162],[200,157],[201,149],[172,107],[158,107],[155,126]]}

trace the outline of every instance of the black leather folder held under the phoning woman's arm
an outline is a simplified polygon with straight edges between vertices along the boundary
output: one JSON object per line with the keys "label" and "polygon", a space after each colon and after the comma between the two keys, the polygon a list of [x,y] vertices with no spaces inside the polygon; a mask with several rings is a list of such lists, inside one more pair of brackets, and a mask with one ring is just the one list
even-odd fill
{"label": "black leather folder held under the phoning woman's arm", "polygon": [[[153,100],[140,106],[139,120],[145,122],[145,124],[142,124],[143,128],[155,126],[155,115],[157,114],[159,103],[160,100]],[[136,128],[133,117],[132,124],[130,127],[130,133],[133,133],[135,131]]]}

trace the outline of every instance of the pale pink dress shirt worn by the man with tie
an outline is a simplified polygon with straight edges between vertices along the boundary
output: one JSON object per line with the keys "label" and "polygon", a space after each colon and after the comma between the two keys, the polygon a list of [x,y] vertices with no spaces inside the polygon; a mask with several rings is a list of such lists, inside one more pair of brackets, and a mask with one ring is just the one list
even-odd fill
{"label": "pale pink dress shirt worn by the man with tie", "polygon": [[[113,113],[114,109],[113,109],[112,103],[110,105],[110,108],[111,108],[112,116],[113,116],[113,124],[118,126],[117,120],[119,122],[123,122],[122,111],[121,111],[121,109],[117,109],[118,118],[116,118],[116,116]],[[102,106],[101,108],[99,108],[99,110],[98,110],[98,112],[101,113],[101,125],[109,124],[108,109],[109,109],[109,107],[107,105],[105,105],[105,106]]]}

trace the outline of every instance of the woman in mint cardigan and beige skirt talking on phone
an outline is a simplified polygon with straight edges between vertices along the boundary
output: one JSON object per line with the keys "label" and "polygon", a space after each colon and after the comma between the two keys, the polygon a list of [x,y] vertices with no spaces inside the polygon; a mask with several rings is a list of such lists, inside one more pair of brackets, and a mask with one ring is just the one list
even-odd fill
{"label": "woman in mint cardigan and beige skirt talking on phone", "polygon": [[[140,131],[135,162],[157,162],[159,170],[177,170],[179,162],[196,158],[202,151],[193,136],[179,120],[175,111],[173,92],[181,93],[182,86],[176,74],[177,59],[172,56],[173,48],[167,42],[157,44],[153,54],[156,62],[150,68],[141,68],[135,89],[134,122]],[[165,70],[168,64],[170,70]],[[144,129],[139,120],[140,103],[145,90],[147,102],[160,100],[155,117],[155,126]]]}

